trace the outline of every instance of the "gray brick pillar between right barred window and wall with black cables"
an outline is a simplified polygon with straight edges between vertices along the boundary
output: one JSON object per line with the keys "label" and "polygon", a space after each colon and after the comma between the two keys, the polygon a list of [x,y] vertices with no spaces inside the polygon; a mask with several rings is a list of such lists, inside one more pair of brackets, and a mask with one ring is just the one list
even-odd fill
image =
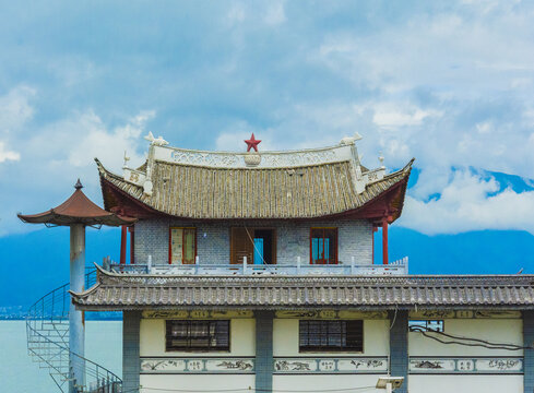
{"label": "gray brick pillar between right barred window and wall with black cables", "polygon": [[408,392],[408,312],[390,311],[390,371],[392,377],[404,377],[402,388],[396,389],[395,393]]}

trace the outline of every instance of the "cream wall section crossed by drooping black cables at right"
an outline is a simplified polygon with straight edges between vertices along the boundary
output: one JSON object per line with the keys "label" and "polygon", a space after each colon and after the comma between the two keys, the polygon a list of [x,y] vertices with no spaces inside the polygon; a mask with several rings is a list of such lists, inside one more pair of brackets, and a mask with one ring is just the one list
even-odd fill
{"label": "cream wall section crossed by drooping black cables at right", "polygon": [[[523,321],[520,319],[447,319],[444,333],[494,343],[523,345]],[[408,333],[408,353],[410,356],[523,356],[522,350],[440,344],[415,332]]]}

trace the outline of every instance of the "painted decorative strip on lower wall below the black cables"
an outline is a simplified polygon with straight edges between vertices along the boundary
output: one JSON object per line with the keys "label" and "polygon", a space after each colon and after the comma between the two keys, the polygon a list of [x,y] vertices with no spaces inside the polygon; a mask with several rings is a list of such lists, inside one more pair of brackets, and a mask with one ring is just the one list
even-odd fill
{"label": "painted decorative strip on lower wall below the black cables", "polygon": [[519,357],[411,357],[411,373],[522,373],[523,358]]}

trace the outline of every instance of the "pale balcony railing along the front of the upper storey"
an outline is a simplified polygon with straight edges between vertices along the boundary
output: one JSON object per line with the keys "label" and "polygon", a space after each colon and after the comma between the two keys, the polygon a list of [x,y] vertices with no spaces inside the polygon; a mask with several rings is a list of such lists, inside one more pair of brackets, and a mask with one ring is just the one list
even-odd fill
{"label": "pale balcony railing along the front of the upper storey", "polygon": [[165,274],[165,275],[405,275],[408,274],[408,258],[404,257],[390,264],[301,264],[299,260],[292,264],[153,264],[151,258],[145,264],[106,263],[104,267],[124,274]]}

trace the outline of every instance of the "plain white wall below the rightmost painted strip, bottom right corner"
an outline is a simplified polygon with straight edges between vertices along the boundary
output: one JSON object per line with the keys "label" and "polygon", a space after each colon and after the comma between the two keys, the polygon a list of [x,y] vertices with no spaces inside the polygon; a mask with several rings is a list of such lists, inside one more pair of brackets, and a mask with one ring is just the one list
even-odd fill
{"label": "plain white wall below the rightmost painted strip, bottom right corner", "polygon": [[523,376],[410,376],[410,393],[522,393]]}

